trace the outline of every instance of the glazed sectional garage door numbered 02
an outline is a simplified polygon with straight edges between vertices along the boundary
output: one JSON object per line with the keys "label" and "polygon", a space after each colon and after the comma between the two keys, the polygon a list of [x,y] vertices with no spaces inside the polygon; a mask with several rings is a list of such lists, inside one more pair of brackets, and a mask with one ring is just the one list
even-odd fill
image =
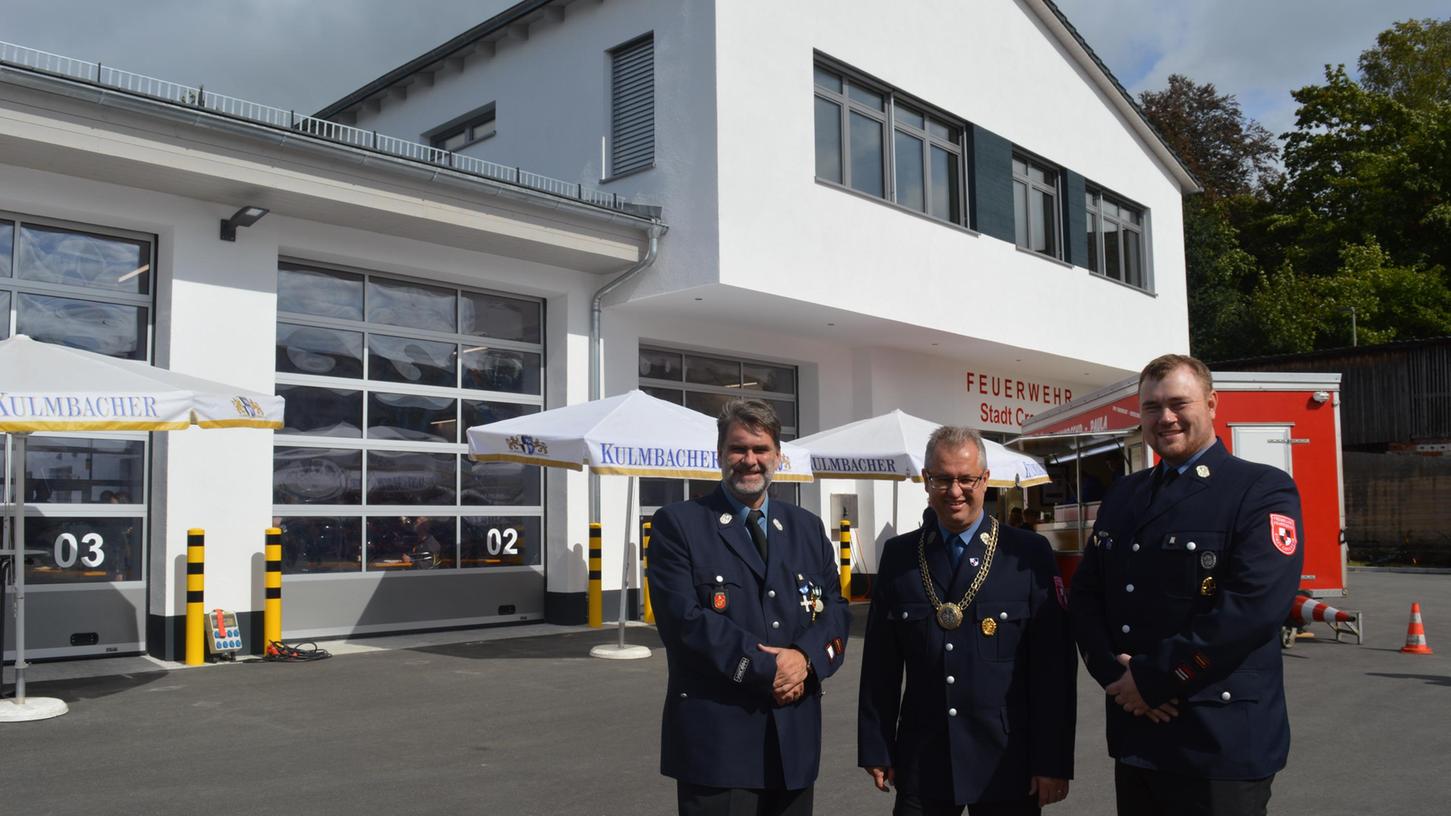
{"label": "glazed sectional garage door numbered 02", "polygon": [[289,633],[540,617],[538,468],[463,431],[540,411],[544,305],[283,261],[273,453]]}

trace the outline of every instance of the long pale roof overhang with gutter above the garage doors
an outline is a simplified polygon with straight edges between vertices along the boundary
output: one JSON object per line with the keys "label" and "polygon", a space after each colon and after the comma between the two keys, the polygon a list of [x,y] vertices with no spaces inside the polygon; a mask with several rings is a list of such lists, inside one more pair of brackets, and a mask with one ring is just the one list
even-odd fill
{"label": "long pale roof overhang with gutter above the garage doors", "polygon": [[591,273],[638,261],[651,224],[15,70],[0,71],[0,155],[9,166],[218,202],[219,211],[263,206]]}

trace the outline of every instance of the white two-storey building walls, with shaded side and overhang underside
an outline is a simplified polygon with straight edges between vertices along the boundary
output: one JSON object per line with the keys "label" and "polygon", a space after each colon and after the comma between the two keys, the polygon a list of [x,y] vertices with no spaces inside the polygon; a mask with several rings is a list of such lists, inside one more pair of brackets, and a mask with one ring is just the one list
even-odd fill
{"label": "white two-storey building walls, with shaded side and overhang underside", "polygon": [[[802,433],[892,408],[1011,431],[1056,402],[998,395],[997,385],[1087,392],[1154,354],[1187,350],[1183,190],[1026,1],[566,9],[527,42],[506,38],[461,74],[415,83],[377,113],[364,107],[358,123],[422,134],[496,99],[498,135],[466,152],[596,181],[604,52],[654,32],[656,167],[605,189],[662,205],[670,232],[660,260],[607,312],[607,393],[636,383],[646,341],[797,364]],[[817,52],[1143,206],[1152,293],[817,183]],[[827,514],[842,489],[802,495]],[[862,537],[891,533],[891,486],[850,489],[862,497]],[[913,526],[921,491],[907,486],[897,501],[898,523]],[[612,505],[622,513],[622,498],[607,498],[607,529]],[[608,575],[608,555],[605,563]]]}

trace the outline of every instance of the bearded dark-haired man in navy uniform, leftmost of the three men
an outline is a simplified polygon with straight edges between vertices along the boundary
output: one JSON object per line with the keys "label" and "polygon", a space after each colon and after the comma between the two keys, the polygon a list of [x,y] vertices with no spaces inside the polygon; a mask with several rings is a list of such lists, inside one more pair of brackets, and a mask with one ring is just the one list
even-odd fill
{"label": "bearded dark-haired man in navy uniform, leftmost of the three men", "polygon": [[653,521],[650,603],[670,666],[660,772],[682,815],[808,815],[820,684],[842,666],[850,611],[821,520],[768,501],[775,411],[731,401],[718,428],[721,486]]}

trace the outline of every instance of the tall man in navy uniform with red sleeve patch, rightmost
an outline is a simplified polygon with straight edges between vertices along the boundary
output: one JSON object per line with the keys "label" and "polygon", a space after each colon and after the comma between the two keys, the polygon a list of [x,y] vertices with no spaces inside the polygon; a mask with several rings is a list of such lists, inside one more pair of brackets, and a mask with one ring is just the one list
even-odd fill
{"label": "tall man in navy uniform with red sleeve patch, rightmost", "polygon": [[1074,575],[1074,636],[1107,691],[1120,815],[1262,815],[1290,752],[1280,624],[1300,582],[1287,473],[1214,437],[1209,369],[1139,376],[1161,462],[1113,484]]}

